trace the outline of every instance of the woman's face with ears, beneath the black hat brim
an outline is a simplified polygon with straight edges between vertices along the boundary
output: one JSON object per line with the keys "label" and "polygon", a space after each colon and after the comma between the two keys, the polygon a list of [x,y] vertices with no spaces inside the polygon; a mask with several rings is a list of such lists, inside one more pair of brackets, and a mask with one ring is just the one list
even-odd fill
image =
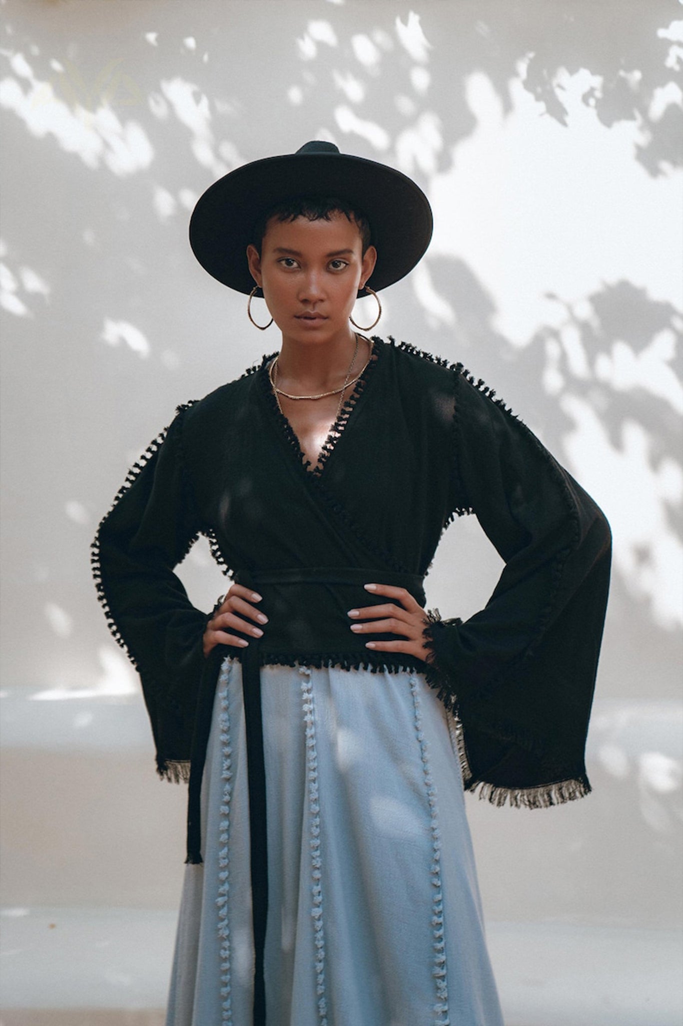
{"label": "woman's face with ears, beneath the black hat brim", "polygon": [[271,219],[261,255],[247,248],[249,269],[283,339],[321,344],[352,333],[356,292],[373,272],[377,251],[362,255],[360,231],[345,214],[330,221]]}

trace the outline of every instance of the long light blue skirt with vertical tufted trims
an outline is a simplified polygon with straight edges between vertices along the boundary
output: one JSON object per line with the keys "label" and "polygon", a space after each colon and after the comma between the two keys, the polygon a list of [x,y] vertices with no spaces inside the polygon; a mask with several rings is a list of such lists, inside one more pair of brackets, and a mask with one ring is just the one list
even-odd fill
{"label": "long light blue skirt with vertical tufted trims", "polygon": [[[268,1026],[503,1026],[456,724],[418,673],[261,671]],[[223,664],[167,1026],[250,1026],[239,662]]]}

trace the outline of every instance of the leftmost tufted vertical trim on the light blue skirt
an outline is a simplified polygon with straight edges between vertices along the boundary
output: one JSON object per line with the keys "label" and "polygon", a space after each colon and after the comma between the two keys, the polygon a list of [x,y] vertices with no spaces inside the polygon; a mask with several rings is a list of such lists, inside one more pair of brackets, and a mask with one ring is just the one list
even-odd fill
{"label": "leftmost tufted vertical trim on the light blue skirt", "polygon": [[218,824],[220,849],[218,851],[218,937],[220,938],[220,997],[223,1026],[232,1023],[231,997],[231,950],[230,924],[228,916],[228,894],[230,890],[229,838],[230,838],[230,802],[232,798],[232,748],[230,746],[230,713],[228,704],[229,664],[224,666],[218,678],[221,687],[219,694],[220,713],[218,727],[220,731],[221,774],[223,788],[220,798],[220,821]]}

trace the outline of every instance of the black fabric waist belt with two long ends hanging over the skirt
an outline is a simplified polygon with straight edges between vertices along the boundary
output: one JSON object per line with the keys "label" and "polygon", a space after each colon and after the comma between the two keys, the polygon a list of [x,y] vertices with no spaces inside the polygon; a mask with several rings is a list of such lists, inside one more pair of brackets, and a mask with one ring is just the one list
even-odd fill
{"label": "black fabric waist belt with two long ends hanging over the skirt", "polygon": [[[253,1026],[265,1026],[264,951],[268,913],[268,857],[265,760],[261,716],[260,668],[268,664],[313,666],[408,666],[410,657],[377,653],[366,647],[369,635],[350,630],[350,608],[390,601],[364,589],[365,584],[405,588],[425,604],[424,578],[417,574],[362,567],[239,570],[234,581],[262,596],[258,608],[268,617],[262,638],[245,634],[246,648],[217,645],[207,660],[200,686],[193,743],[187,816],[187,861],[201,862],[201,792],[206,749],[211,729],[213,699],[220,664],[226,656],[242,663],[242,687],[247,738],[249,831],[251,851],[252,917],[254,929]],[[242,632],[236,632],[238,634]],[[373,633],[372,640],[396,640],[396,634]]]}

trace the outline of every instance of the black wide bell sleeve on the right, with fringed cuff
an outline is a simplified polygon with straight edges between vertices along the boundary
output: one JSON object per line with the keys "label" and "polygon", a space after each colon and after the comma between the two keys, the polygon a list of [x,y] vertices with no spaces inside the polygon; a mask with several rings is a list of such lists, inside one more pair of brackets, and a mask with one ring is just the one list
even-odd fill
{"label": "black wide bell sleeve on the right, with fringed cuff", "polygon": [[590,496],[481,386],[456,370],[453,507],[476,515],[505,567],[469,620],[432,619],[427,676],[457,713],[465,787],[541,807],[591,789],[611,536]]}

